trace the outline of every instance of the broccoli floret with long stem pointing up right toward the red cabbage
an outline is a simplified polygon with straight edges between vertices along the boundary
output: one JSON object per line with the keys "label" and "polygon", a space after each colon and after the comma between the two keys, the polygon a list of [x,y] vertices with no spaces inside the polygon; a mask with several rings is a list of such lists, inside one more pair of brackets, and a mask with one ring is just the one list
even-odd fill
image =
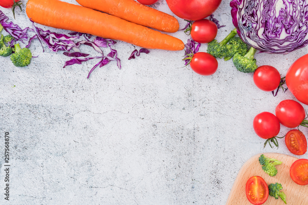
{"label": "broccoli floret with long stem pointing up right toward the red cabbage", "polygon": [[237,30],[233,29],[230,34],[225,37],[220,43],[217,43],[217,40],[214,39],[213,41],[209,42],[207,53],[211,54],[215,58],[222,58],[225,57],[228,53],[228,48],[225,46],[231,38],[233,38],[237,34]]}

